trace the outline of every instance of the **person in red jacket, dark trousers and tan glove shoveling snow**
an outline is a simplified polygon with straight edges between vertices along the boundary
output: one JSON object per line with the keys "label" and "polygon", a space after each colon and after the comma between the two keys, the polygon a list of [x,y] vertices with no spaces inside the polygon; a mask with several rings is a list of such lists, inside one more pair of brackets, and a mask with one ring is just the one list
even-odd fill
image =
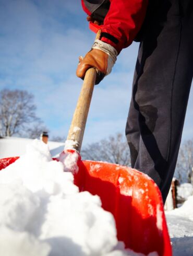
{"label": "person in red jacket, dark trousers and tan glove shoveling snow", "polygon": [[87,69],[95,67],[99,84],[120,51],[140,41],[126,137],[131,167],[158,184],[165,202],[193,74],[193,1],[82,0],[82,7],[88,20],[102,27],[100,38],[80,59],[78,77],[83,79]]}

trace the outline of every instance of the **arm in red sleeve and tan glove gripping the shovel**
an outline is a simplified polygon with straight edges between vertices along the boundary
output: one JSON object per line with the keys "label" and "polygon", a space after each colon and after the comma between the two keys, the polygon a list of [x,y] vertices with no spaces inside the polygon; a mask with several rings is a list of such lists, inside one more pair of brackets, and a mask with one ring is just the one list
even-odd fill
{"label": "arm in red sleeve and tan glove gripping the shovel", "polygon": [[129,46],[139,32],[146,15],[148,0],[111,0],[104,19],[100,40],[96,40],[85,58],[80,59],[77,76],[85,77],[95,67],[96,84],[111,73],[119,52]]}

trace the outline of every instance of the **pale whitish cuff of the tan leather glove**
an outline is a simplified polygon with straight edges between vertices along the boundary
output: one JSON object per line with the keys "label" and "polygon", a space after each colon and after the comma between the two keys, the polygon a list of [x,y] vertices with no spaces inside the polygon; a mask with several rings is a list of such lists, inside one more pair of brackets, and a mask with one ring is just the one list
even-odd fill
{"label": "pale whitish cuff of the tan leather glove", "polygon": [[115,63],[118,53],[117,50],[111,44],[96,39],[92,45],[92,49],[98,49],[107,53],[109,56],[111,56],[112,61]]}

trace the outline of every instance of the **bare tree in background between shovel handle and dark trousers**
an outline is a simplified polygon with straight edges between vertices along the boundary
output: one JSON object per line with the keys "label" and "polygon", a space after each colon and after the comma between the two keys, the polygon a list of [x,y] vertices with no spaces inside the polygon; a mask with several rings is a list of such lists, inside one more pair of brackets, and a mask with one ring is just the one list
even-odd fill
{"label": "bare tree in background between shovel handle and dark trousers", "polygon": [[126,138],[120,133],[88,145],[81,150],[81,156],[83,159],[130,165],[129,147]]}

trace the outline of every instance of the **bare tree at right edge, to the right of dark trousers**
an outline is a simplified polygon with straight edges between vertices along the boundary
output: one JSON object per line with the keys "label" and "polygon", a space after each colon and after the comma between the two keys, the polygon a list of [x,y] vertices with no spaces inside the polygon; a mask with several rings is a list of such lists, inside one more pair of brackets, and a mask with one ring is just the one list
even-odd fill
{"label": "bare tree at right edge, to the right of dark trousers", "polygon": [[193,167],[193,139],[182,143],[179,149],[175,177],[182,182],[191,183]]}

